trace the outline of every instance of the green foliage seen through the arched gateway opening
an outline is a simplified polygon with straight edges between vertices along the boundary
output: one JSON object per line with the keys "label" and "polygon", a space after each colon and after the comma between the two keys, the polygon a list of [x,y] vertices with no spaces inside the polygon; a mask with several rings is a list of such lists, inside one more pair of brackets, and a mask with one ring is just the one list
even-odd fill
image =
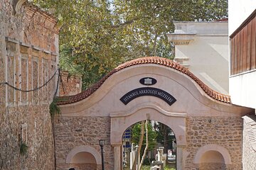
{"label": "green foliage seen through the arched gateway opening", "polygon": [[[142,126],[141,123],[136,123],[132,127],[132,143],[134,143],[135,145],[138,145],[138,143],[139,143],[139,138],[140,138],[140,135],[141,135],[141,126]],[[149,148],[148,148],[148,150],[151,151],[157,145],[157,143],[156,143],[156,132],[152,128],[152,125],[151,125],[150,121],[147,123],[147,128],[148,128],[148,136],[149,136]],[[142,142],[142,148],[144,148],[145,145],[146,145],[145,138],[146,137],[144,137],[144,140]]]}

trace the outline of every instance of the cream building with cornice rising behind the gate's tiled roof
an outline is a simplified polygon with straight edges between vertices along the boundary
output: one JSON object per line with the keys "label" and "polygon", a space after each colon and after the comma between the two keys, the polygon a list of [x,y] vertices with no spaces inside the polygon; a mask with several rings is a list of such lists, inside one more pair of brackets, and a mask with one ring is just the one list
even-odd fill
{"label": "cream building with cornice rising behind the gate's tiled roof", "polygon": [[[228,94],[228,22],[175,22],[170,41],[193,39],[188,45],[175,45],[175,60],[211,89]],[[192,34],[193,33],[193,37]]]}

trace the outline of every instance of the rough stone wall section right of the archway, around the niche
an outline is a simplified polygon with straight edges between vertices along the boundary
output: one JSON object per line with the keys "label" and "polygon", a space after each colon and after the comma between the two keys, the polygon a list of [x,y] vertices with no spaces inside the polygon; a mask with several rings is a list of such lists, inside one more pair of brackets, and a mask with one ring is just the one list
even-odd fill
{"label": "rough stone wall section right of the archway, around the niche", "polygon": [[232,164],[226,169],[242,169],[242,118],[188,117],[186,140],[186,169],[198,169],[199,165],[193,164],[198,149],[212,144],[228,149]]}

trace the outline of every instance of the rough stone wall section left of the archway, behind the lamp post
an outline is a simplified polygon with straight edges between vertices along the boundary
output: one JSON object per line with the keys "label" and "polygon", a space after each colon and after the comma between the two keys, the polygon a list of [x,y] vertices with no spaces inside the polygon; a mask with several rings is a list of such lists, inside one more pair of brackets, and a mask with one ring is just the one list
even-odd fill
{"label": "rough stone wall section left of the archway, behind the lamp post", "polygon": [[[68,169],[72,164],[66,164],[68,154],[75,147],[90,146],[100,154],[99,140],[105,140],[105,169],[114,169],[114,151],[110,145],[109,117],[63,117],[55,123],[57,169]],[[101,165],[97,165],[97,170]]]}

